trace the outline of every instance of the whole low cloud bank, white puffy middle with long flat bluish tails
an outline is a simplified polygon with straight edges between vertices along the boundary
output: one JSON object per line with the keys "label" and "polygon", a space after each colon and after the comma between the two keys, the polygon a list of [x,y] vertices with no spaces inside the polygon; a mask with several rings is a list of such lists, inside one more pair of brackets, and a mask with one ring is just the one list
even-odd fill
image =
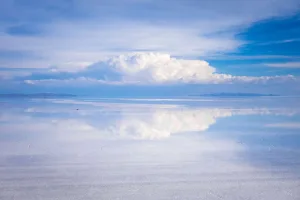
{"label": "whole low cloud bank, white puffy middle with long flat bluish tails", "polygon": [[35,73],[23,79],[27,84],[222,84],[292,81],[295,77],[233,76],[218,73],[204,60],[178,59],[162,53],[133,53],[102,60],[77,72],[52,68],[48,73]]}

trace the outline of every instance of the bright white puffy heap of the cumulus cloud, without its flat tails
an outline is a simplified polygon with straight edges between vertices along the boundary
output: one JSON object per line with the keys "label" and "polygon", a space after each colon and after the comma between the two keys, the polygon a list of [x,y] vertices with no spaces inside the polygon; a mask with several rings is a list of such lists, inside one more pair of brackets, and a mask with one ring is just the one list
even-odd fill
{"label": "bright white puffy heap of the cumulus cloud, without its flat tails", "polygon": [[205,81],[216,71],[202,60],[175,59],[158,53],[121,55],[106,61],[106,66],[119,72],[124,81],[140,82]]}

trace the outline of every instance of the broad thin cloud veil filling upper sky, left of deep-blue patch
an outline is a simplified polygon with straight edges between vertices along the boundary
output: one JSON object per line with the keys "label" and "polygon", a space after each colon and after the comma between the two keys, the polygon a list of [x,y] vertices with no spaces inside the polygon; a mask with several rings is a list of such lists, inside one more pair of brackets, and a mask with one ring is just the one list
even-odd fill
{"label": "broad thin cloud veil filling upper sky, left of deep-blue patch", "polygon": [[[0,49],[36,55],[4,67],[81,67],[135,51],[198,57],[236,51],[236,35],[260,20],[295,14],[297,0],[4,0]],[[16,14],[17,13],[17,14]],[[38,19],[38,20],[36,20]],[[20,66],[21,65],[21,66]]]}

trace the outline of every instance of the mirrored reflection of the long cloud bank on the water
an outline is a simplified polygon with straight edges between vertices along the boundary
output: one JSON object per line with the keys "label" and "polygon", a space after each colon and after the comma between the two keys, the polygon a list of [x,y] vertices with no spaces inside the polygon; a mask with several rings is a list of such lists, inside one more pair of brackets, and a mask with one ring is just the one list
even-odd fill
{"label": "mirrored reflection of the long cloud bank on the water", "polygon": [[[63,102],[58,108],[28,107],[0,114],[2,129],[10,132],[55,134],[60,139],[166,139],[187,132],[203,132],[218,119],[236,115],[293,115],[295,110],[268,108],[199,108],[105,102]],[[80,109],[74,111],[74,105]],[[11,111],[10,111],[11,112]],[[5,123],[9,122],[9,123]]]}

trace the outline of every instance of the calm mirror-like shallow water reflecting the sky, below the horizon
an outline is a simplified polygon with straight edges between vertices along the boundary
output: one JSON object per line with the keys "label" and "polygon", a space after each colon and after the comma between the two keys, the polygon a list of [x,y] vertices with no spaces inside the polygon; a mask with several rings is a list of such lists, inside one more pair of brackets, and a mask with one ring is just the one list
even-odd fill
{"label": "calm mirror-like shallow water reflecting the sky, below the horizon", "polygon": [[300,199],[300,99],[1,99],[0,199]]}

